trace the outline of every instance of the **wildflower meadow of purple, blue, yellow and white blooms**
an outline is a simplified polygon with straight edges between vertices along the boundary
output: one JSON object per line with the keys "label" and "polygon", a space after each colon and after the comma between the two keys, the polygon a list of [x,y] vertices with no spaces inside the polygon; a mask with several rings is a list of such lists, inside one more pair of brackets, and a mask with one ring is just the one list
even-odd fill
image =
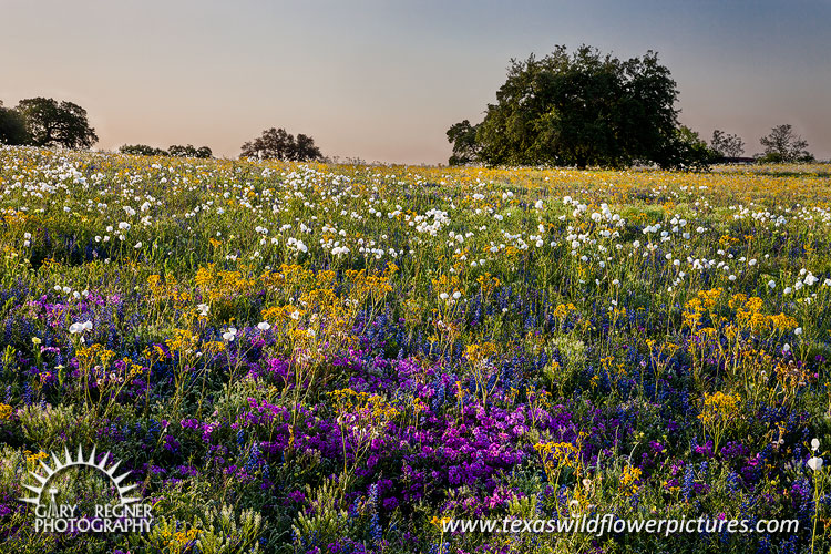
{"label": "wildflower meadow of purple, blue, yellow and white blooms", "polygon": [[[827,552],[830,201],[822,165],[0,148],[0,550]],[[151,533],[34,531],[25,473],[93,444]],[[441,526],[582,514],[800,529]]]}

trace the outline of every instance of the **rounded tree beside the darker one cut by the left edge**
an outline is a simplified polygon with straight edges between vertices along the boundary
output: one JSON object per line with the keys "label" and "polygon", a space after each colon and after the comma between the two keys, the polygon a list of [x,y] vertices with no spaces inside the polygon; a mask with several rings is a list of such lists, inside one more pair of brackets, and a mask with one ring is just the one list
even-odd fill
{"label": "rounded tree beside the darker one cut by the left edge", "polygon": [[27,99],[20,101],[17,110],[23,115],[27,132],[35,146],[89,148],[99,140],[86,120],[86,110],[72,102]]}

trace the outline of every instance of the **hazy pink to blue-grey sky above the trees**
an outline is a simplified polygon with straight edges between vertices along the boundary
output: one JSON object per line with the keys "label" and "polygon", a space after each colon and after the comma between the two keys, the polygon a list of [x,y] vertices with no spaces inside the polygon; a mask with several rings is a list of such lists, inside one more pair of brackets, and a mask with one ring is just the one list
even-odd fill
{"label": "hazy pink to blue-grey sky above the trees", "polygon": [[0,100],[86,109],[96,148],[207,145],[268,127],[324,154],[447,163],[512,58],[589,44],[658,52],[679,120],[709,138],[790,123],[831,158],[831,0],[0,0]]}

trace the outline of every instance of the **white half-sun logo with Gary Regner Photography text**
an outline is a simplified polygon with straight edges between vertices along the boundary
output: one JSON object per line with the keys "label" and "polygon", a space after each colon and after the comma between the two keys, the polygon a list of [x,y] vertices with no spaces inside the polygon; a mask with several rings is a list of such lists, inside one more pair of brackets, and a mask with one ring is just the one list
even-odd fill
{"label": "white half-sun logo with Gary Regner Photography text", "polygon": [[[95,462],[95,447],[89,458],[84,458],[81,447],[78,448],[78,456],[73,458],[69,449],[64,448],[64,459],[61,460],[54,452],[51,453],[52,463],[39,460],[39,472],[31,471],[30,474],[37,480],[37,484],[23,484],[33,493],[33,496],[21,497],[22,502],[34,505],[35,531],[54,533],[100,533],[100,532],[140,532],[150,531],[152,522],[151,506],[141,504],[141,497],[130,495],[137,486],[126,484],[124,480],[130,471],[116,475],[121,461],[113,460],[110,465],[110,452],[106,452],[100,462]],[[94,515],[80,515],[78,504],[59,504],[55,496],[59,490],[54,486],[55,476],[71,468],[92,469],[104,475],[105,481],[112,483],[119,493],[117,504],[95,504]],[[49,500],[44,497],[49,494]]]}

